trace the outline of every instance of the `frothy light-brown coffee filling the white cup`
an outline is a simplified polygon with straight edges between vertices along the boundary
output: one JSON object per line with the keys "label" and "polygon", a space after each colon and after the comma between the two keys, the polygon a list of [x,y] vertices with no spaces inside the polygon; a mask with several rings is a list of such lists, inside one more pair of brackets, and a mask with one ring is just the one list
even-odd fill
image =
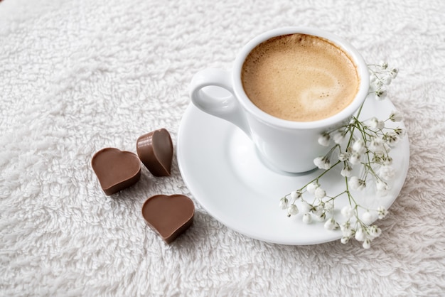
{"label": "frothy light-brown coffee filling the white cup", "polygon": [[257,45],[242,66],[242,85],[259,109],[290,121],[316,121],[353,101],[360,76],[353,60],[324,38],[290,34]]}

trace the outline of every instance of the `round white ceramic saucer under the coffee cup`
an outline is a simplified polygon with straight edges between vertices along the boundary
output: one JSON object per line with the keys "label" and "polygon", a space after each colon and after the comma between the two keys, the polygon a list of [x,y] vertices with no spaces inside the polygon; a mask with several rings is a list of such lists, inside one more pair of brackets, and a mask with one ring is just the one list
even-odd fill
{"label": "round white ceramic saucer under the coffee cup", "polygon": [[[386,119],[395,110],[388,99],[367,100],[360,119]],[[404,128],[403,123],[397,126]],[[279,208],[279,199],[301,188],[321,171],[286,174],[272,171],[260,161],[250,139],[228,121],[201,112],[190,104],[183,115],[176,146],[178,165],[183,180],[195,200],[227,227],[248,237],[277,244],[319,244],[341,238],[341,231],[324,229],[323,223],[306,225],[301,212],[287,217]],[[397,175],[390,192],[377,197],[373,187],[354,193],[360,205],[377,209],[389,208],[399,195],[409,165],[408,137],[394,148],[391,155]],[[331,172],[330,172],[331,173]],[[328,195],[344,190],[340,174],[327,174],[321,180]],[[335,218],[342,222],[339,210],[345,197],[336,199]]]}

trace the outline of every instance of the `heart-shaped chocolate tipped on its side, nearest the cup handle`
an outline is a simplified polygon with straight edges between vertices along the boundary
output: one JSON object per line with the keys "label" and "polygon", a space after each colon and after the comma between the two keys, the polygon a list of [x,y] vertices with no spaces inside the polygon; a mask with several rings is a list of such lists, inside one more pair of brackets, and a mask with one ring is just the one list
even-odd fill
{"label": "heart-shaped chocolate tipped on its side, nearest the cup handle", "polygon": [[166,129],[144,134],[137,139],[136,151],[142,163],[154,176],[170,175],[173,144]]}

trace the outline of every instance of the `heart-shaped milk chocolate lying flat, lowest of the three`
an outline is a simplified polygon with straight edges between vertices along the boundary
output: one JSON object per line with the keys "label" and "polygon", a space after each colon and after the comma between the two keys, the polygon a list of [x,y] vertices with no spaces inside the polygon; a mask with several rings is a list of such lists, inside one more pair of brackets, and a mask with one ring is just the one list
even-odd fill
{"label": "heart-shaped milk chocolate lying flat, lowest of the three", "polygon": [[191,226],[195,215],[193,201],[184,195],[155,195],[142,205],[145,222],[170,244]]}

